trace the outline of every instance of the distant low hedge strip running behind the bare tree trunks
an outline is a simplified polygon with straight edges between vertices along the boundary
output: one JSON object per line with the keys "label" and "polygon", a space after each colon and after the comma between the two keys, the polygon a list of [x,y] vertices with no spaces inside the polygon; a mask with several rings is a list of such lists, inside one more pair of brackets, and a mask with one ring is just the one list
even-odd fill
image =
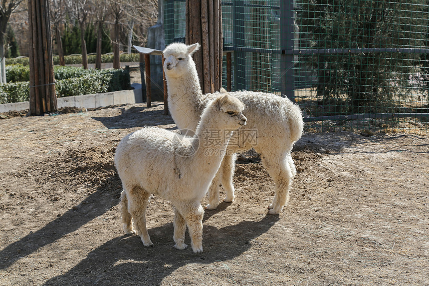
{"label": "distant low hedge strip running behind the bare tree trunks", "polygon": [[[95,54],[89,54],[87,56],[88,63],[95,63]],[[22,65],[28,65],[28,57],[19,57],[19,58],[6,58],[6,65],[12,65],[12,64],[22,64]],[[136,62],[138,63],[140,61],[140,55],[138,53],[122,53],[119,55],[119,60],[121,62]],[[81,55],[65,55],[64,56],[64,62],[65,64],[81,64],[82,63],[82,56]],[[113,54],[102,54],[101,55],[101,62],[113,62]],[[54,65],[59,65],[59,56],[54,55],[53,56],[53,63]]]}

